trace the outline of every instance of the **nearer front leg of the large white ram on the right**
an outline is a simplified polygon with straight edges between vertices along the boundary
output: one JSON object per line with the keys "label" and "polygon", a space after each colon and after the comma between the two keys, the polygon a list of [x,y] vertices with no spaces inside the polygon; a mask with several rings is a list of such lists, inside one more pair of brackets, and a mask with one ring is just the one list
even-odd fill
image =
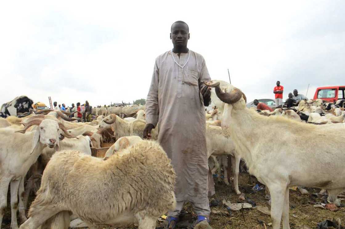
{"label": "nearer front leg of the large white ram on the right", "polygon": [[271,218],[273,229],[280,228],[280,221],[282,220],[282,213],[285,201],[285,192],[287,189],[286,185],[282,184],[268,184],[267,185],[272,199],[271,205]]}

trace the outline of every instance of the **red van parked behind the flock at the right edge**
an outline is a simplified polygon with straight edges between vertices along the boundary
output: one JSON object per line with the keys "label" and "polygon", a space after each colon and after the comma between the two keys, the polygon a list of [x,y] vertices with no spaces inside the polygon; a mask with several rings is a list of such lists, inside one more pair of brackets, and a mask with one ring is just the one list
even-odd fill
{"label": "red van parked behind the flock at the right edge", "polygon": [[336,102],[338,99],[345,99],[345,86],[329,86],[317,88],[314,99],[322,99],[327,102]]}

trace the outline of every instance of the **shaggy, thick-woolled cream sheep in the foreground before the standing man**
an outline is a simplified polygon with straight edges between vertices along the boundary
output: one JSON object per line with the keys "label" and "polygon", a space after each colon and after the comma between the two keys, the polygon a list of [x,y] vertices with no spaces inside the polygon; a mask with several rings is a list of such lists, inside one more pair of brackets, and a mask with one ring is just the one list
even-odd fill
{"label": "shaggy, thick-woolled cream sheep in the foreground before the standing man", "polygon": [[66,211],[89,228],[138,223],[139,229],[154,229],[157,218],[176,207],[171,160],[154,141],[143,140],[125,152],[107,160],[72,150],[54,154],[20,229],[36,229],[61,215],[67,217],[58,221],[66,226]]}

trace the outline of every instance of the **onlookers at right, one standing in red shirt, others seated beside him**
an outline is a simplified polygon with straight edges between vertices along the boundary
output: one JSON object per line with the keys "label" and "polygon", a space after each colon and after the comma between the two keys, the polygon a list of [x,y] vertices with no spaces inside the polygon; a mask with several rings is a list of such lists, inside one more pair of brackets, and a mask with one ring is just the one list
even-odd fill
{"label": "onlookers at right, one standing in red shirt, others seated beside him", "polygon": [[[277,86],[274,87],[273,93],[275,95],[275,102],[276,102],[276,107],[294,107],[298,106],[299,101],[301,100],[308,100],[307,97],[305,97],[303,94],[298,94],[298,90],[294,89],[293,93],[289,92],[288,98],[283,102],[283,92],[284,92],[284,86],[280,85],[280,81],[277,81],[276,83]],[[269,110],[273,111],[272,108],[270,108],[267,104],[259,102],[257,99],[254,100],[254,105],[256,106],[257,109],[259,110]]]}

